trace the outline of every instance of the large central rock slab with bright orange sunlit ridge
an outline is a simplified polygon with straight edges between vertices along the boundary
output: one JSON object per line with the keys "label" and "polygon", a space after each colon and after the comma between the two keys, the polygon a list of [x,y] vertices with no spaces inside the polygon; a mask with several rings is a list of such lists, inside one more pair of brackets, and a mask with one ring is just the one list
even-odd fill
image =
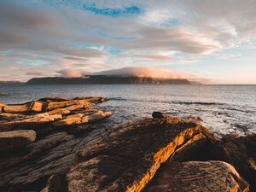
{"label": "large central rock slab with bright orange sunlit ridge", "polygon": [[179,119],[145,119],[110,133],[67,172],[68,191],[141,191],[160,165],[210,137],[207,128]]}

